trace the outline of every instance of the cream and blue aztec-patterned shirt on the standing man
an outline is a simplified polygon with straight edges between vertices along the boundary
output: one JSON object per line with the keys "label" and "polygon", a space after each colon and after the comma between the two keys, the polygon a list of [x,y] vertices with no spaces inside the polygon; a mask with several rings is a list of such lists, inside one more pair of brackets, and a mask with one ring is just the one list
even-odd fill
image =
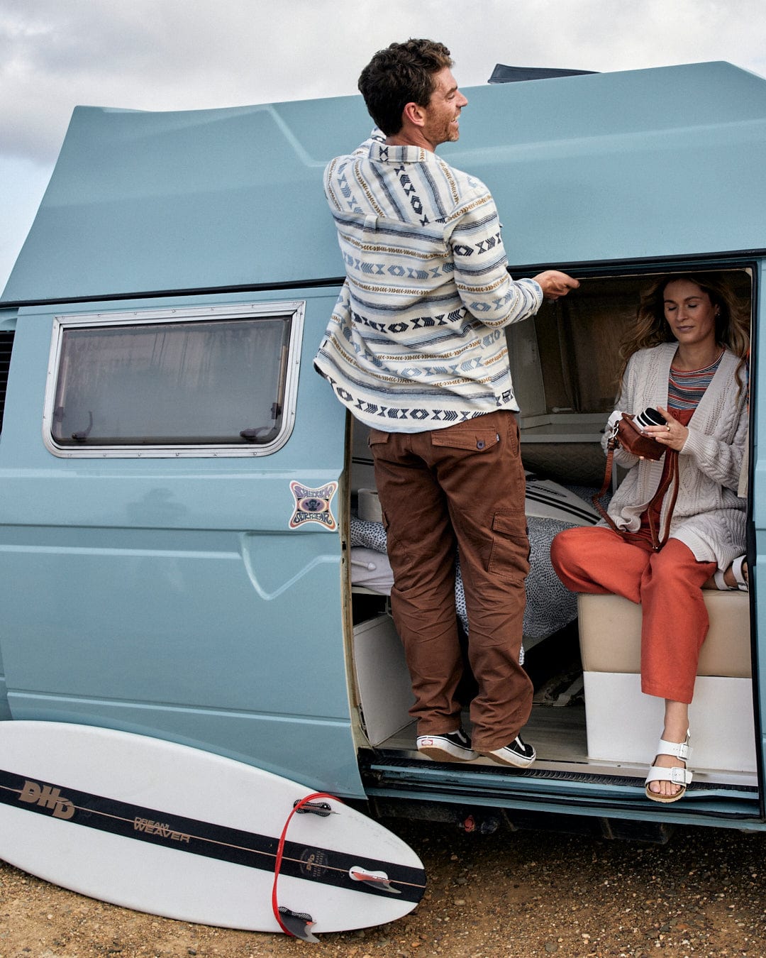
{"label": "cream and blue aztec-patterned shirt on the standing man", "polygon": [[422,432],[518,412],[503,327],[534,315],[484,183],[379,130],[325,171],[347,280],[315,359],[356,419]]}

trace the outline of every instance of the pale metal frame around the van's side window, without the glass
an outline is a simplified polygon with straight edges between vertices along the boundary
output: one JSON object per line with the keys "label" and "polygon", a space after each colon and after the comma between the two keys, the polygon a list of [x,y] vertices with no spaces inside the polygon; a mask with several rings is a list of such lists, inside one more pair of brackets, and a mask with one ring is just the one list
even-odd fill
{"label": "pale metal frame around the van's side window, without the glass", "polygon": [[[236,303],[212,307],[141,308],[121,312],[90,312],[55,315],[42,416],[42,438],[49,452],[63,459],[177,459],[252,458],[273,455],[287,442],[295,425],[301,348],[304,336],[305,300]],[[108,329],[115,326],[153,326],[206,320],[290,317],[290,335],[283,382],[282,428],[264,445],[142,444],[142,445],[59,445],[53,435],[53,416],[64,332],[74,329]],[[254,371],[255,372],[255,371]]]}

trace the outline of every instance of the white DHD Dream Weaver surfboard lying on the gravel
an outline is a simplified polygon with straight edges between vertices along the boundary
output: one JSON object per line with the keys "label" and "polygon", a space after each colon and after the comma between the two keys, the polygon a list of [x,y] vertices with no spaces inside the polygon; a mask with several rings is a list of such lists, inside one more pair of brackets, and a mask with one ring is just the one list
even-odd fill
{"label": "white DHD Dream Weaver surfboard lying on the gravel", "polygon": [[[415,852],[338,799],[211,752],[0,721],[0,857],[91,898],[253,931],[343,931],[416,906]],[[278,906],[280,926],[274,913]]]}

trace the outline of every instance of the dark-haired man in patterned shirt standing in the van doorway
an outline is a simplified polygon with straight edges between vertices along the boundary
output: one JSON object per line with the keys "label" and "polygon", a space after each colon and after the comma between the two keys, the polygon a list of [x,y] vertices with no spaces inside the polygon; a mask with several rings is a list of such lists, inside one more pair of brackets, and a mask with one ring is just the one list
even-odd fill
{"label": "dark-haired man in patterned shirt standing in the van doorway", "polygon": [[[315,364],[372,429],[418,751],[526,767],[535,759],[520,735],[532,699],[519,664],[529,542],[503,328],[579,284],[557,270],[513,281],[489,191],[436,155],[460,136],[467,103],[452,65],[443,44],[411,39],[362,71],[378,128],[325,171],[347,280]],[[456,554],[479,686],[472,742],[456,697]]]}

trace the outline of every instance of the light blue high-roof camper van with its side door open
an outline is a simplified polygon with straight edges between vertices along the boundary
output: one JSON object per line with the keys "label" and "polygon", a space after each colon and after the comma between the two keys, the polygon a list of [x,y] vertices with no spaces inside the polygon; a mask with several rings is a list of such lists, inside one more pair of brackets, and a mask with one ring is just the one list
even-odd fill
{"label": "light blue high-roof camper van with its side door open", "polygon": [[[505,331],[535,764],[417,753],[366,430],[313,368],[344,277],[322,172],[369,135],[360,97],[75,110],[0,300],[0,719],[181,743],[480,832],[764,830],[766,80],[716,62],[465,93],[439,152],[491,190],[511,275],[580,283]],[[642,289],[693,270],[751,310],[750,591],[706,592],[694,780],[659,805],[641,610],[568,592],[550,544],[598,519]]]}

